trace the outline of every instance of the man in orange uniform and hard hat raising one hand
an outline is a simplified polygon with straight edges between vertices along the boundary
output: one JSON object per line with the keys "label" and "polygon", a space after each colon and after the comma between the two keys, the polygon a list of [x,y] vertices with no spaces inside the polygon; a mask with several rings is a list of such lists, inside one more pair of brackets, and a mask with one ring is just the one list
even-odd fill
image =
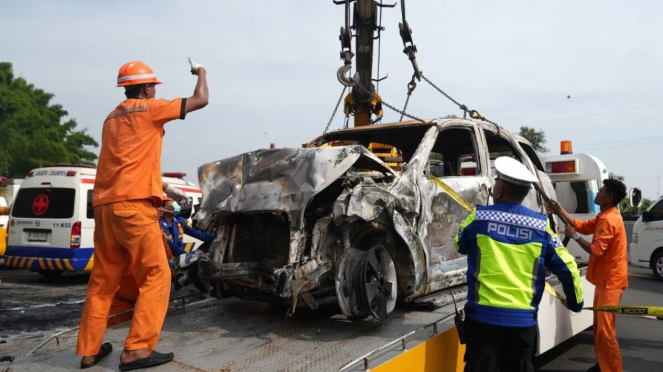
{"label": "man in orange uniform and hard hat raising one hand", "polygon": [[120,370],[128,371],[167,363],[172,353],[154,351],[168,310],[170,269],[155,207],[165,192],[185,200],[183,193],[161,181],[161,147],[164,125],[184,119],[207,105],[207,72],[189,58],[198,75],[193,96],[171,101],[155,99],[161,84],[152,69],[140,61],[124,64],[117,86],[126,100],[104,121],[92,203],[94,207],[94,267],[76,353],[81,368],[89,368],[110,354],[104,332],[111,302],[127,271],[139,288]]}

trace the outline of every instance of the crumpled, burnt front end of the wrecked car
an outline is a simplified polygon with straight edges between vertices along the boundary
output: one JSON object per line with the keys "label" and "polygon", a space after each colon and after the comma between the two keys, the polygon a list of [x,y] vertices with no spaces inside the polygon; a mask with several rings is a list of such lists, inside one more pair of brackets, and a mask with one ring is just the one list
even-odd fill
{"label": "crumpled, burnt front end of the wrecked car", "polygon": [[394,191],[401,177],[362,146],[259,150],[206,164],[199,178],[197,224],[218,232],[200,277],[217,294],[311,308],[336,302],[343,251],[393,225],[382,210],[416,199],[412,187]]}

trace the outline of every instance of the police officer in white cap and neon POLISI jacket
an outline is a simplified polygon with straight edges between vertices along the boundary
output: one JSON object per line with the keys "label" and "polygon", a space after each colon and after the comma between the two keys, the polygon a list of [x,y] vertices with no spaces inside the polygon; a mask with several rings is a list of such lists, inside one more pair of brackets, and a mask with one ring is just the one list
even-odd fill
{"label": "police officer in white cap and neon POLISI jacket", "polygon": [[468,256],[465,372],[530,372],[545,268],[574,312],[583,307],[580,274],[547,218],[521,205],[537,178],[509,157],[496,159],[495,170],[495,204],[477,206],[455,238]]}

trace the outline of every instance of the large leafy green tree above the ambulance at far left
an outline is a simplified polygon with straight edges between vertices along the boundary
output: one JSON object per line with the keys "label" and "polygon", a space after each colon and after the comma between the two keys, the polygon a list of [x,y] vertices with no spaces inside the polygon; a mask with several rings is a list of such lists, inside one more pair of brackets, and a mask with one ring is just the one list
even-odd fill
{"label": "large leafy green tree above the ambulance at far left", "polygon": [[61,105],[50,103],[53,96],[0,62],[0,175],[23,178],[52,163],[94,165],[97,155],[89,147],[99,144],[86,129],[76,130],[76,119],[67,119]]}

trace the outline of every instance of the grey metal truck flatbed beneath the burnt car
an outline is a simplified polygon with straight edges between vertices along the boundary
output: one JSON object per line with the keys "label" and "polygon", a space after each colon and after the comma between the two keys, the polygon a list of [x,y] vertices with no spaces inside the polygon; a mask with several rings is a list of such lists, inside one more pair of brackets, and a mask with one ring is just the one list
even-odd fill
{"label": "grey metal truck flatbed beneath the burnt car", "polygon": [[[462,306],[463,303],[458,304]],[[155,372],[171,371],[339,371],[348,363],[361,359],[389,342],[420,330],[453,314],[453,305],[436,310],[407,306],[383,322],[350,322],[338,310],[316,312],[298,309],[286,319],[283,306],[241,300],[238,298],[209,299],[171,308],[164,322],[157,345],[160,351],[173,351],[172,363],[156,367]],[[438,331],[453,327],[453,318],[438,326]],[[117,371],[120,353],[129,323],[111,327],[105,341],[113,344],[113,353],[95,371]],[[75,355],[76,332],[60,337],[59,344],[50,341],[29,357],[19,357],[11,371],[71,371],[78,369]],[[412,335],[410,349],[429,336]],[[400,343],[399,343],[400,346]],[[401,353],[402,349],[385,350]],[[376,357],[371,367],[389,356]],[[346,371],[364,371],[363,363]]]}

